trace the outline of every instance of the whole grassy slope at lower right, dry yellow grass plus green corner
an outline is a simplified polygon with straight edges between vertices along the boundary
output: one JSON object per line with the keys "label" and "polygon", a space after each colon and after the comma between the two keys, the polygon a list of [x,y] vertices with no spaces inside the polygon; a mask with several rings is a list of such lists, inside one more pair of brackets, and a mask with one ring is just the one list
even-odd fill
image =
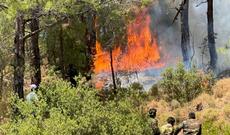
{"label": "whole grassy slope at lower right, dry yellow grass plus green corner", "polygon": [[[195,111],[198,119],[204,124],[204,135],[230,134],[230,78],[219,80],[213,87],[213,95],[201,94],[193,101],[180,106],[178,102],[167,103],[163,100],[151,101],[147,108],[158,110],[160,124],[168,116],[174,116],[178,122],[187,118],[188,112]],[[197,105],[200,111],[197,111]],[[202,109],[201,109],[202,108]]]}

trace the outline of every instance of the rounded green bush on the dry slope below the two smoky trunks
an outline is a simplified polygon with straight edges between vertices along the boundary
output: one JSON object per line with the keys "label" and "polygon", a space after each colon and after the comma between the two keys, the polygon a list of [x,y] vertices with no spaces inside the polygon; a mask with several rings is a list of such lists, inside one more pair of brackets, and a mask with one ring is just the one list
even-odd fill
{"label": "rounded green bush on the dry slope below the two smoky trunks", "polygon": [[192,68],[186,71],[183,64],[177,68],[168,68],[162,74],[160,88],[167,101],[176,99],[180,103],[189,102],[202,92],[211,92],[214,80],[210,74],[206,75]]}

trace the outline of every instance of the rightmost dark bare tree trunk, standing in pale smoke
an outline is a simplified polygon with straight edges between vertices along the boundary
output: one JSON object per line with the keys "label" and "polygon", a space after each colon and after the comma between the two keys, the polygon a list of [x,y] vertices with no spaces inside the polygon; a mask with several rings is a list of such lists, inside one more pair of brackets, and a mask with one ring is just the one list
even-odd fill
{"label": "rightmost dark bare tree trunk, standing in pale smoke", "polygon": [[216,69],[217,52],[215,46],[214,19],[213,19],[213,0],[208,0],[208,48],[210,53],[210,68]]}

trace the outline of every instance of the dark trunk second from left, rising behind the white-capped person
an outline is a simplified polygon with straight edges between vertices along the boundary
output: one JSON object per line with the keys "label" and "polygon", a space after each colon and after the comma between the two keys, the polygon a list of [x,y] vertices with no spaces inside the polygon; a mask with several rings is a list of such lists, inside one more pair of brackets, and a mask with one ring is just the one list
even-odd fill
{"label": "dark trunk second from left, rising behind the white-capped person", "polygon": [[[32,21],[30,23],[31,32],[37,31],[39,29],[39,19],[38,19],[39,8],[35,8],[32,10]],[[33,35],[31,37],[31,84],[36,84],[39,86],[41,82],[41,67],[40,67],[40,50],[39,50],[39,33]]]}

